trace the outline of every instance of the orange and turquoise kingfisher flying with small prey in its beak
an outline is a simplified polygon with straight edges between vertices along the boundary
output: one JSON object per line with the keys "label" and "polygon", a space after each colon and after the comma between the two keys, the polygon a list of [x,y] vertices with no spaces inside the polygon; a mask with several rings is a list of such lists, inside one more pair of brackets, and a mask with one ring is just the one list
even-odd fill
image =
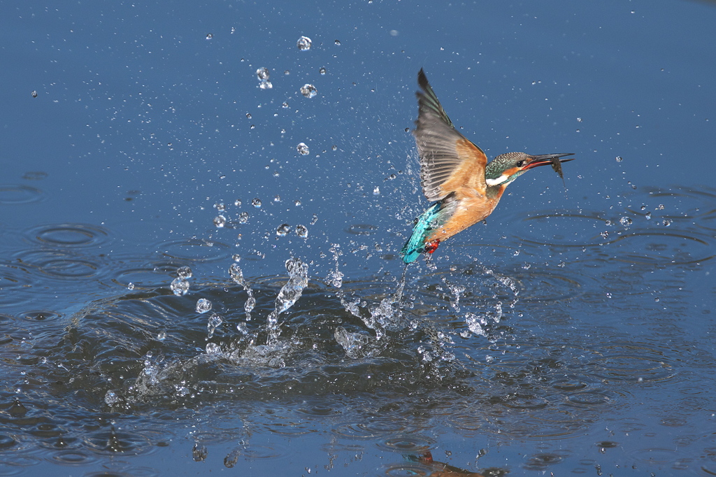
{"label": "orange and turquoise kingfisher flying with small prey in its beak", "polygon": [[505,188],[526,171],[550,164],[561,176],[561,163],[575,159],[563,159],[574,153],[506,153],[488,164],[483,150],[455,130],[422,68],[417,84],[418,115],[412,134],[420,155],[422,192],[433,203],[417,218],[400,251],[406,264],[422,253],[432,254],[445,239],[483,221],[495,210]]}

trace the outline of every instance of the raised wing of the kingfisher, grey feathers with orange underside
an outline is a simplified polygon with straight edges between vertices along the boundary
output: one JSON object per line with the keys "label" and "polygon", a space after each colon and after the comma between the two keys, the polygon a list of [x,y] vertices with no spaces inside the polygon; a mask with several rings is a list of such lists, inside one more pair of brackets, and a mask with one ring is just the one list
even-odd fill
{"label": "raised wing of the kingfisher, grey feathers with orange underside", "polygon": [[422,91],[415,93],[418,115],[412,133],[420,154],[420,183],[425,197],[440,201],[463,187],[484,194],[485,153],[455,130],[422,68],[417,84]]}

